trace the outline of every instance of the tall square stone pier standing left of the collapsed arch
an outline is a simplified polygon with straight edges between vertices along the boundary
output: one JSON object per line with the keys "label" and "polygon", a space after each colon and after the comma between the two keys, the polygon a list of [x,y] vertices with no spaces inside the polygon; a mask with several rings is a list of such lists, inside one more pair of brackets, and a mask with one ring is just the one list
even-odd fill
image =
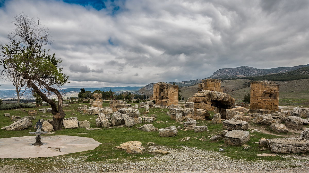
{"label": "tall square stone pier standing left of the collapsed arch", "polygon": [[171,85],[164,82],[154,84],[153,99],[157,105],[178,105],[178,85]]}

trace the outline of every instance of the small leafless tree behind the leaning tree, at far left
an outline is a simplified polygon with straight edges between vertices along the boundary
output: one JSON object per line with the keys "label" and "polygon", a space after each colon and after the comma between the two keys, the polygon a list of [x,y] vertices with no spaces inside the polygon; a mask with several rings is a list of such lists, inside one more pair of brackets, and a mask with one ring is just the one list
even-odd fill
{"label": "small leafless tree behind the leaning tree, at far left", "polygon": [[17,72],[16,69],[11,69],[11,68],[6,69],[5,73],[6,73],[6,78],[9,81],[11,81],[12,84],[15,86],[15,91],[17,93],[17,103],[19,103],[20,98],[23,96],[23,93],[26,91],[26,87],[23,92],[20,93],[20,91],[26,85],[27,80],[25,80],[23,76],[17,76],[19,75],[19,73]]}

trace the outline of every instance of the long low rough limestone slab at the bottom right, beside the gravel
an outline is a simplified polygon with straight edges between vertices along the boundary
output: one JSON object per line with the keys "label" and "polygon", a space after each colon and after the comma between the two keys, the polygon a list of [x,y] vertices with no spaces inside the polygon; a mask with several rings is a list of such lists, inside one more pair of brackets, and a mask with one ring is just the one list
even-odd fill
{"label": "long low rough limestone slab at the bottom right, beside the gravel", "polygon": [[270,151],[276,153],[300,153],[309,151],[309,141],[301,138],[266,139]]}

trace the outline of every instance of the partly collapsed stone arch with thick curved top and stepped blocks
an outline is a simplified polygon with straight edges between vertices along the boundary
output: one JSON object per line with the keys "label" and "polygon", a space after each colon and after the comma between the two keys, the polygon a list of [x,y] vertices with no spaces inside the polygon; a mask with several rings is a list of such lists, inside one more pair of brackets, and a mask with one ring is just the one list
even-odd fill
{"label": "partly collapsed stone arch with thick curved top and stepped blocks", "polygon": [[177,113],[181,113],[184,120],[187,118],[206,119],[210,116],[207,111],[214,111],[213,107],[216,107],[217,113],[226,119],[226,109],[231,109],[234,103],[235,99],[226,93],[203,90],[188,98],[184,108],[171,108],[169,113],[172,120],[176,120]]}

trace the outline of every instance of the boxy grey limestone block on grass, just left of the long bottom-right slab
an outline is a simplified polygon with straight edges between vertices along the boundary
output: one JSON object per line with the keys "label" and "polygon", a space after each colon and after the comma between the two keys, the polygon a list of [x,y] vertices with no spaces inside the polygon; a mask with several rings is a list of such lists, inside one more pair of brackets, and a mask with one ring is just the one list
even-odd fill
{"label": "boxy grey limestone block on grass, just left of the long bottom-right slab", "polygon": [[229,145],[240,146],[250,140],[248,131],[233,130],[229,131],[224,136],[224,143]]}

